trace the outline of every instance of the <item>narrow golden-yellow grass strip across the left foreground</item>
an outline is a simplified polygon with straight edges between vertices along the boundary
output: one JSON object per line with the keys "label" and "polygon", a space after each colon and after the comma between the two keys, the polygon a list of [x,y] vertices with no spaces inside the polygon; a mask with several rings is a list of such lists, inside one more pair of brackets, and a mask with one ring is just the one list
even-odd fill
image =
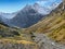
{"label": "narrow golden-yellow grass strip across the left foreground", "polygon": [[24,44],[24,45],[31,44],[31,45],[36,45],[36,42],[34,42],[34,41],[15,40],[15,39],[8,39],[8,38],[0,39],[0,42],[4,42],[4,44],[12,42],[12,44]]}

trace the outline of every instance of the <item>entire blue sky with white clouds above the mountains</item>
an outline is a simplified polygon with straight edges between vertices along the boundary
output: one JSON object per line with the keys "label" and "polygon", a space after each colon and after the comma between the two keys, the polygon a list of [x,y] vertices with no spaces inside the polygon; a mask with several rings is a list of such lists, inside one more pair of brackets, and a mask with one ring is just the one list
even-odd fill
{"label": "entire blue sky with white clouds above the mountains", "polygon": [[38,2],[40,5],[50,7],[53,2],[60,3],[62,0],[0,0],[0,12],[12,13],[23,9],[26,4]]}

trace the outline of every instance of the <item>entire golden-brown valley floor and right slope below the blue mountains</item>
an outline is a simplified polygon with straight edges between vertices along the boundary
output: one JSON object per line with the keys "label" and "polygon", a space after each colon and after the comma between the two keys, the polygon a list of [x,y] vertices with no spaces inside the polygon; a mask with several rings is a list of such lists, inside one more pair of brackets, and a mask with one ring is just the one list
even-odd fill
{"label": "entire golden-brown valley floor and right slope below the blue mountains", "polygon": [[65,49],[65,9],[63,9],[63,3],[28,28],[0,24],[0,48]]}

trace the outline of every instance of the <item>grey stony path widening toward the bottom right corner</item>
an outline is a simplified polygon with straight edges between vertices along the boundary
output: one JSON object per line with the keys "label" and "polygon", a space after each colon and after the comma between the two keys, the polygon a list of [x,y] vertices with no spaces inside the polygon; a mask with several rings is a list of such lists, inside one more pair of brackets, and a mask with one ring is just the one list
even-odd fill
{"label": "grey stony path widening toward the bottom right corner", "polygon": [[34,34],[36,36],[35,41],[39,45],[40,49],[65,49],[64,45],[58,45],[49,39],[43,34]]}

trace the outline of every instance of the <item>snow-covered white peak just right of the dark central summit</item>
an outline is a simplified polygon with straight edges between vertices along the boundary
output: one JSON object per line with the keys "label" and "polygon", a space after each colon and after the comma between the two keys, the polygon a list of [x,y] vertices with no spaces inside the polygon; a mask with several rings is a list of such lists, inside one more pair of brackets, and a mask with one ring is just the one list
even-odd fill
{"label": "snow-covered white peak just right of the dark central summit", "polygon": [[46,15],[46,14],[49,14],[50,13],[50,11],[49,11],[48,8],[41,7],[39,3],[35,3],[32,5],[32,9],[35,11],[37,11],[38,13],[42,14],[42,15]]}

